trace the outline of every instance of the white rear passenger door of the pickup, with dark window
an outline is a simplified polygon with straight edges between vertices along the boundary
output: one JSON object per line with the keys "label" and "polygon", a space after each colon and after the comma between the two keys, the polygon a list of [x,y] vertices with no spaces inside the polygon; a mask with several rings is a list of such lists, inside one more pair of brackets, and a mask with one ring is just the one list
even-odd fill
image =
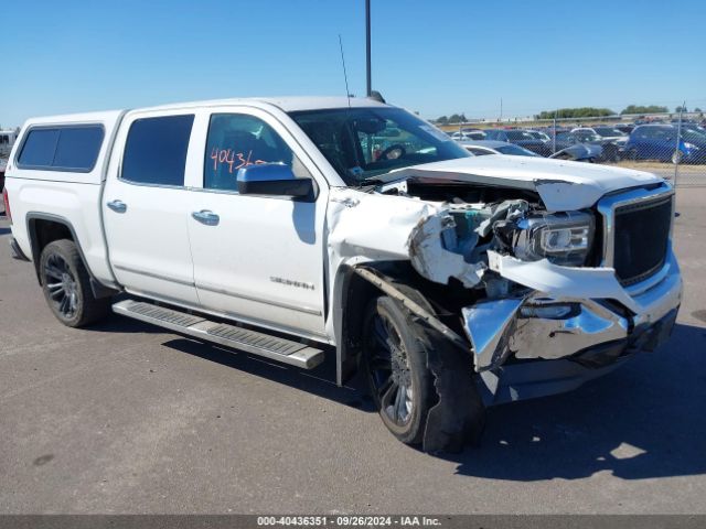
{"label": "white rear passenger door of the pickup, with dark window", "polygon": [[131,115],[116,140],[103,194],[110,264],[128,290],[197,304],[184,185],[194,115]]}

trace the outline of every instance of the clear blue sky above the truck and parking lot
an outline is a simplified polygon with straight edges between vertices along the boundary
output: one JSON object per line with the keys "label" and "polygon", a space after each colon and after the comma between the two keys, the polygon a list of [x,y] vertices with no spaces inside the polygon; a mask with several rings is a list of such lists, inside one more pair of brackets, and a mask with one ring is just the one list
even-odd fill
{"label": "clear blue sky above the truck and parking lot", "polygon": [[[706,109],[706,0],[372,0],[373,87],[421,116]],[[364,0],[3,0],[0,125],[365,91]]]}

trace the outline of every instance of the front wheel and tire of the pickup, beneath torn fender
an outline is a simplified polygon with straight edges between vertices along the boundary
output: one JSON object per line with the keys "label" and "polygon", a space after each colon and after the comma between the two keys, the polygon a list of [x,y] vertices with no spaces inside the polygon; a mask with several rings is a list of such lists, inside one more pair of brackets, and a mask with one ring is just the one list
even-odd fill
{"label": "front wheel and tire of the pickup, beneath torn fender", "polygon": [[367,307],[364,333],[365,373],[383,423],[403,443],[421,443],[436,403],[426,331],[398,302],[381,296]]}

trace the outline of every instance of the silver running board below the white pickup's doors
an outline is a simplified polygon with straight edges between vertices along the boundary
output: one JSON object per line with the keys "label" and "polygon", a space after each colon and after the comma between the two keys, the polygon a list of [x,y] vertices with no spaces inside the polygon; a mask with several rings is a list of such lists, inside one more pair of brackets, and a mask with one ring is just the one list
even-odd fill
{"label": "silver running board below the white pickup's doors", "polygon": [[313,369],[323,361],[323,350],[306,344],[226,323],[212,322],[205,317],[151,303],[126,300],[115,303],[113,311],[204,342],[225,345],[304,369]]}

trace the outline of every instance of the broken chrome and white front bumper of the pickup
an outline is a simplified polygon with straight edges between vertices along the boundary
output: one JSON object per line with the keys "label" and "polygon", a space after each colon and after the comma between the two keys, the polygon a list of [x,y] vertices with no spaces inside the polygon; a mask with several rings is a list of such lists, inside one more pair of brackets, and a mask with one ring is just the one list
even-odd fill
{"label": "broken chrome and white front bumper of the pickup", "polygon": [[[612,269],[495,259],[503,276],[534,290],[462,311],[475,370],[493,395],[505,395],[501,401],[571,389],[629,353],[656,348],[674,326],[682,278],[671,249],[659,272],[630,288],[620,285]],[[532,390],[520,391],[513,379]]]}

